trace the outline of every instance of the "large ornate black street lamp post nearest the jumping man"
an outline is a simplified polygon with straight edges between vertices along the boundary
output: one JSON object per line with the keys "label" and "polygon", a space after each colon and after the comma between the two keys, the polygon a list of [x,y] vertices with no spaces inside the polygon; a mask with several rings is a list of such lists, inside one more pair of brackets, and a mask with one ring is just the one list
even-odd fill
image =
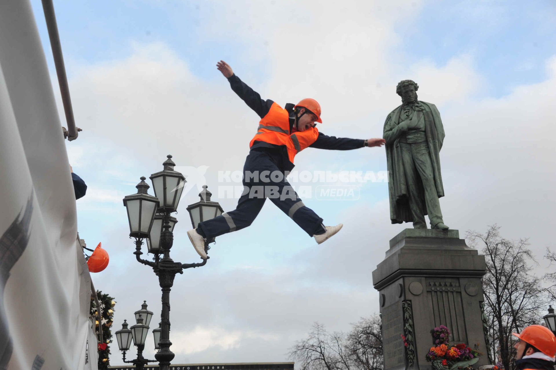
{"label": "large ornate black street lamp post nearest the jumping man", "polygon": [[[172,345],[172,342],[170,342],[170,290],[173,286],[173,280],[177,273],[183,273],[183,269],[205,266],[207,262],[206,259],[203,259],[203,262],[200,263],[180,263],[174,262],[170,258],[173,228],[177,223],[177,219],[171,217],[170,214],[177,210],[183,185],[186,181],[180,172],[174,171],[176,164],[172,161],[172,156],[168,155],[167,158],[162,163],[164,169],[150,176],[155,197],[147,194],[149,186],[145,183],[145,177],[141,177],[141,182],[137,185],[137,193],[123,198],[130,223],[130,237],[135,238],[135,252],[133,254],[135,254],[138,262],[152,267],[158,276],[158,283],[162,289],[160,331],[158,329],[153,330],[155,348],[160,348],[155,354],[160,370],[168,370],[170,362],[175,356],[170,351]],[[197,223],[214,218],[222,213],[220,204],[210,201],[210,195],[211,193],[207,191],[206,185],[203,186],[203,191],[199,194],[201,202],[187,207],[192,221],[191,209],[199,211],[199,217],[195,214],[195,219],[198,219]],[[202,210],[198,207],[201,207]],[[196,224],[193,224],[193,227],[196,227]],[[154,254],[153,261],[146,261],[141,258],[143,239],[147,239],[148,253]],[[205,252],[208,251],[210,242],[212,240],[205,243]],[[150,318],[148,321],[150,322]]]}

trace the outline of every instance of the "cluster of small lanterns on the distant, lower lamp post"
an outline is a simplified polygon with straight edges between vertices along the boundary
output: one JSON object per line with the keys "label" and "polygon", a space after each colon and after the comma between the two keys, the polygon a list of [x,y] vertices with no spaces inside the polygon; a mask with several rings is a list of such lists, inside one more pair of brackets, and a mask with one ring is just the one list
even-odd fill
{"label": "cluster of small lanterns on the distant, lower lamp post", "polygon": [[[147,301],[143,301],[141,309],[135,311],[135,321],[136,324],[131,328],[127,328],[127,320],[123,321],[122,328],[116,332],[116,339],[118,341],[118,347],[120,351],[127,351],[130,349],[131,341],[133,339],[133,344],[135,346],[145,346],[145,340],[147,339],[147,333],[151,323],[152,312],[147,309]],[[158,328],[153,329],[152,334],[155,337],[155,349],[160,349],[158,342],[160,342],[160,333],[162,328],[160,324]]]}

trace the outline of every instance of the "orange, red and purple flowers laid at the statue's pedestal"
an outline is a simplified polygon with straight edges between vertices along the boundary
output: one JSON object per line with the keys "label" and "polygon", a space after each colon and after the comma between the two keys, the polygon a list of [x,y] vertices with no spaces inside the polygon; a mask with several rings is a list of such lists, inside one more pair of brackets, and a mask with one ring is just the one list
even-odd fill
{"label": "orange, red and purple flowers laid at the statue's pedestal", "polygon": [[479,361],[482,353],[477,348],[471,349],[465,343],[449,345],[450,332],[448,328],[441,325],[434,328],[434,343],[436,347],[431,347],[426,355],[427,361],[433,363],[436,370],[456,370],[458,368],[471,368],[471,365]]}

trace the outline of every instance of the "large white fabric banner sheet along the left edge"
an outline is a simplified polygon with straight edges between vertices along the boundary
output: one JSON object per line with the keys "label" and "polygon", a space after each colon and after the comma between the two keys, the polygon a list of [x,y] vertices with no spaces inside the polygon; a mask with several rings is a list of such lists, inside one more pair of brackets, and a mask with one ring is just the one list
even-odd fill
{"label": "large white fabric banner sheet along the left edge", "polygon": [[31,5],[5,1],[0,4],[0,369],[97,368],[85,364],[90,279],[77,242],[67,153]]}

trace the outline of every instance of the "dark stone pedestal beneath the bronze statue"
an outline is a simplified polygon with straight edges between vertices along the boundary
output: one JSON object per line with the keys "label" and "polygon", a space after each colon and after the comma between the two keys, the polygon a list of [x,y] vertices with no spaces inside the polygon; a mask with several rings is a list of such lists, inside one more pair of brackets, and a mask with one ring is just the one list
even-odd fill
{"label": "dark stone pedestal beneath the bronze statue", "polygon": [[[373,271],[380,294],[384,369],[430,370],[431,329],[444,325],[450,343],[479,344],[474,367],[489,364],[483,326],[484,256],[457,230],[405,229],[390,240],[386,258]],[[401,334],[407,337],[404,347]]]}

